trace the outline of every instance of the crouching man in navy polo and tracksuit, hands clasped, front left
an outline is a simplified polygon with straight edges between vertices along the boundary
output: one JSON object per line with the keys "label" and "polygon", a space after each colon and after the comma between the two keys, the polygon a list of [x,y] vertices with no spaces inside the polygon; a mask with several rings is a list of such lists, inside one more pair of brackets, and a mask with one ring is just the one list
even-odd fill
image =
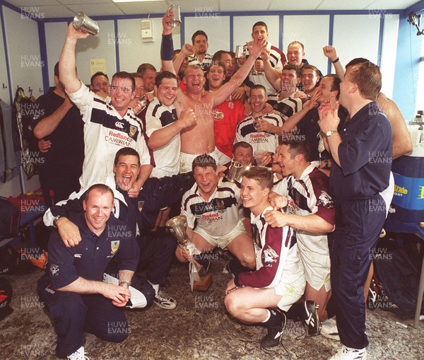
{"label": "crouching man in navy polo and tracksuit, hands clasped, front left", "polygon": [[[126,225],[111,215],[113,207],[110,187],[93,185],[84,211],[72,216],[81,242],[67,248],[57,230],[49,238],[49,265],[38,281],[38,292],[52,314],[58,357],[85,359],[84,331],[110,342],[122,342],[129,334],[123,308],[131,297],[128,288],[139,262],[139,245],[134,237],[122,236],[131,232],[122,231]],[[102,282],[112,259],[119,269],[119,285]]]}

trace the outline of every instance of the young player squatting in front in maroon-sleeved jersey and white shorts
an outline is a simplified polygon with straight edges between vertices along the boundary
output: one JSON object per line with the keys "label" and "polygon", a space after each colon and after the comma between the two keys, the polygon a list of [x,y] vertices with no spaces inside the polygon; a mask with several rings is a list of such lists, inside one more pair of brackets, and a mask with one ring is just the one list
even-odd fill
{"label": "young player squatting in front in maroon-sleeved jersey and white shorts", "polygon": [[[289,226],[272,228],[264,214],[273,210],[269,192],[273,175],[255,166],[242,178],[243,206],[251,211],[256,271],[240,272],[228,282],[225,306],[242,323],[266,327],[261,347],[275,347],[285,327],[285,312],[305,291],[298,245]],[[314,314],[316,315],[316,314]]]}

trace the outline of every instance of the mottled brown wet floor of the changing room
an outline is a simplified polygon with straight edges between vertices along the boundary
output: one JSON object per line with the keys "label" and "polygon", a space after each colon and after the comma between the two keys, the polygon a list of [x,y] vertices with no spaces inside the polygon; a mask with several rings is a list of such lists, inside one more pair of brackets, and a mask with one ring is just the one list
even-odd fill
{"label": "mottled brown wet floor of the changing room", "polygon": [[[322,335],[302,338],[298,323],[288,323],[283,344],[267,354],[261,351],[261,327],[247,326],[230,318],[223,303],[225,286],[230,279],[223,273],[225,262],[213,261],[213,283],[206,292],[189,289],[187,268],[175,265],[170,271],[172,286],[166,291],[178,301],[175,310],[151,306],[129,310],[130,335],[114,344],[87,334],[86,352],[90,360],[268,360],[328,359],[341,346]],[[0,348],[6,359],[57,359],[54,355],[54,327],[37,298],[35,286],[42,275],[8,276],[13,285],[11,306],[14,312],[0,322]],[[396,321],[404,323],[402,327]],[[401,320],[380,309],[368,311],[368,359],[423,359],[424,323],[413,328],[413,319]]]}

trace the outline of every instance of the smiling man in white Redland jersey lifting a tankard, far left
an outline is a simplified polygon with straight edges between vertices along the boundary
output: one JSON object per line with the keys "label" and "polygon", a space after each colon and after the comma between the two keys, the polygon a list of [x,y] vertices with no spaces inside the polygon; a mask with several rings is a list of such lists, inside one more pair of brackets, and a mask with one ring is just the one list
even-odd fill
{"label": "smiling man in white Redland jersey lifting a tankard, far left", "polygon": [[154,166],[153,155],[146,144],[146,134],[129,107],[136,96],[134,77],[120,71],[112,76],[110,98],[99,98],[76,76],[76,42],[88,33],[68,27],[64,48],[59,60],[59,73],[69,98],[81,111],[84,126],[84,163],[80,178],[81,187],[95,182],[105,182],[113,173],[114,155],[122,147],[129,146],[140,154],[141,167],[138,178],[129,190],[129,196],[139,194],[144,181]]}

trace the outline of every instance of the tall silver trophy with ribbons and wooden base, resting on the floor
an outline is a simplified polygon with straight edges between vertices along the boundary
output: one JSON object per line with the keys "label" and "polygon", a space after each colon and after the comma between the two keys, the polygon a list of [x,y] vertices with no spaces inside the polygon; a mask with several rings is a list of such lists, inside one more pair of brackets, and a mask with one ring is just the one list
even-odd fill
{"label": "tall silver trophy with ribbons and wooden base, resting on the floor", "polygon": [[170,232],[177,239],[178,243],[189,250],[191,259],[189,264],[189,277],[192,291],[206,291],[211,285],[212,277],[211,274],[206,274],[204,267],[194,260],[196,246],[190,242],[187,236],[187,217],[184,215],[174,216],[172,219],[169,219],[165,225],[170,229]]}

